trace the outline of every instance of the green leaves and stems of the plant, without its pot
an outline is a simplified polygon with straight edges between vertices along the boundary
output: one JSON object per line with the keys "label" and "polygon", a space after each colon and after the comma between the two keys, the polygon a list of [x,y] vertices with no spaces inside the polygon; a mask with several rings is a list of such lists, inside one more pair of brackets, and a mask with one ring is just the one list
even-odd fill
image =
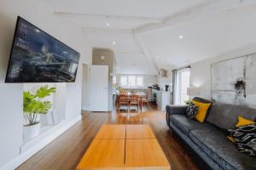
{"label": "green leaves and stems of the plant, without its pot", "polygon": [[29,91],[23,93],[23,112],[28,124],[32,126],[37,124],[38,114],[47,114],[52,104],[50,101],[42,101],[45,97],[54,94],[56,88],[49,88],[47,85],[39,88],[36,94]]}

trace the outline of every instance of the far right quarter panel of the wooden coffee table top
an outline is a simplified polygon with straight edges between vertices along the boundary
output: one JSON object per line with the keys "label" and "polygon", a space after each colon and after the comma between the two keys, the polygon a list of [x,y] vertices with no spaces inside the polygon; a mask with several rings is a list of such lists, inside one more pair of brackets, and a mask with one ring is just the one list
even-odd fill
{"label": "far right quarter panel of the wooden coffee table top", "polygon": [[149,125],[126,125],[126,139],[155,139]]}

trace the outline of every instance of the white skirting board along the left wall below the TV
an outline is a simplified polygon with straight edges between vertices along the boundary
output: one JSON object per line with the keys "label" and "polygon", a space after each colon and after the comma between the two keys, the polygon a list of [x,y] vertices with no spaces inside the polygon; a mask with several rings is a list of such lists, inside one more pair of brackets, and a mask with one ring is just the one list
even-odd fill
{"label": "white skirting board along the left wall below the TV", "polygon": [[52,142],[54,139],[64,133],[68,128],[72,127],[76,122],[79,122],[81,119],[82,116],[80,115],[73,120],[66,122],[62,127],[56,129],[55,133],[52,133],[51,135],[49,135],[48,138],[34,145],[31,149],[26,150],[26,152],[21,153],[20,156],[15,157],[13,161],[9,161],[9,163],[1,167],[0,170],[13,170],[16,167],[19,167],[24,161],[34,156],[39,150],[42,150],[47,144]]}

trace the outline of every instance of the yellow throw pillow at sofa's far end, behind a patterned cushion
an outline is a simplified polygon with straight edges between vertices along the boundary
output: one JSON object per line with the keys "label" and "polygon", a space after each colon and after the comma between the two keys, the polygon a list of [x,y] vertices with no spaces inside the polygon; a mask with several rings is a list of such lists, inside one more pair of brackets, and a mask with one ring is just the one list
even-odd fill
{"label": "yellow throw pillow at sofa's far end, behind a patterned cushion", "polygon": [[207,111],[212,104],[205,104],[195,100],[192,100],[192,103],[198,106],[198,112],[195,115],[195,120],[197,120],[198,122],[204,122],[207,116]]}

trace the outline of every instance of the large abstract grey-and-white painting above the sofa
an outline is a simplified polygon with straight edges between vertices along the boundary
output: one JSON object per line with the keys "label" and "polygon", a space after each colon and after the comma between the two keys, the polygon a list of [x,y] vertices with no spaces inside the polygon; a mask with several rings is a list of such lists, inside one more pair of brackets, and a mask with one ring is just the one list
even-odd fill
{"label": "large abstract grey-and-white painting above the sofa", "polygon": [[256,54],[212,64],[212,99],[256,109]]}

